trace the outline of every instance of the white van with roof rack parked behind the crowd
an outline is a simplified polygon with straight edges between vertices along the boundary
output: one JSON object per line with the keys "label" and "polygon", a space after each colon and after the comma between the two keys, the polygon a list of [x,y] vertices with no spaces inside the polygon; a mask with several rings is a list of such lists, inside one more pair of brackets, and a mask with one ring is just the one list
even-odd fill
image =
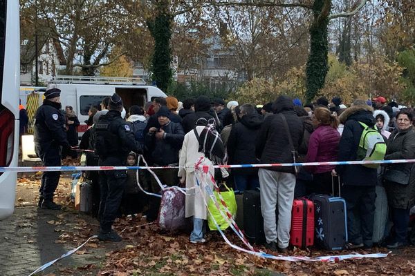
{"label": "white van with roof rack parked behind the crowd", "polygon": [[[167,97],[162,90],[145,85],[140,78],[57,76],[48,83],[47,89],[50,88],[61,90],[62,109],[65,106],[73,107],[81,123],[78,127],[80,136],[87,128],[84,122],[88,120],[89,108],[100,109],[102,99],[113,93],[120,95],[127,112],[130,106],[144,106],[156,97]],[[43,95],[43,92],[40,93]],[[42,100],[42,97],[39,99]]]}

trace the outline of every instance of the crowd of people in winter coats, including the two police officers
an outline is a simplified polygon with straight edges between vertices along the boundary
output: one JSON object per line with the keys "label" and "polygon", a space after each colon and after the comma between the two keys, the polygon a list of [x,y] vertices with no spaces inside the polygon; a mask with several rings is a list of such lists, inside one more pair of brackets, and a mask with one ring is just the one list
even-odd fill
{"label": "crowd of people in winter coats, including the two police officers", "polygon": [[[46,111],[39,111],[42,106],[37,117],[62,124],[64,119],[59,115],[55,119],[56,111],[52,110],[57,108],[57,103],[51,97],[59,93],[48,90],[45,95]],[[349,107],[340,97],[334,97],[331,102],[322,97],[304,106],[299,99],[284,95],[263,106],[237,101],[225,103],[223,99],[205,96],[185,99],[183,103],[175,97],[160,97],[144,106],[131,106],[126,119],[122,117],[122,110],[122,99],[115,94],[104,99],[102,110],[91,116],[93,124],[80,144],[81,148],[95,151],[88,153],[87,164],[133,166],[137,164],[137,156],[143,155],[151,166],[180,166],[180,170],[154,170],[161,183],[167,186],[194,187],[194,164],[199,157],[205,157],[207,164],[362,159],[358,150],[366,127],[376,129],[382,135],[387,145],[385,159],[415,158],[414,110],[393,101],[386,104],[384,97],[356,100]],[[53,128],[53,133],[45,135],[46,130],[42,128],[42,123],[35,124],[39,157],[46,166],[59,166],[57,160],[45,154],[52,150],[51,147],[44,149],[42,145],[53,141],[52,144],[70,148],[71,143],[62,136],[64,130],[61,133]],[[332,183],[333,177],[338,176],[342,183],[341,195],[347,202],[348,248],[370,248],[374,244],[376,185],[385,186],[390,220],[394,224],[394,228],[387,231],[387,247],[405,246],[409,209],[415,204],[414,173],[413,164],[379,168],[347,165],[306,166],[299,170],[278,166],[212,170],[216,181],[226,181],[234,190],[243,192],[259,188],[266,247],[279,252],[288,248],[293,199],[312,194],[337,195],[340,191],[333,190]],[[57,206],[53,203],[57,185],[53,174],[59,177],[59,172],[45,172],[42,178],[41,199],[46,208]],[[95,181],[95,186],[99,186],[96,193],[100,193],[100,203],[95,204],[95,213],[100,221],[100,239],[121,240],[111,228],[120,206],[124,206],[124,213],[144,211],[147,220],[156,219],[160,199],[140,194],[135,173],[104,170],[91,172],[89,177]],[[140,172],[140,184],[151,193],[160,193],[158,182],[148,173]],[[203,224],[208,212],[203,197],[208,199],[203,190],[193,190],[186,195],[186,217],[193,217],[194,222],[190,235],[193,243],[205,242]]]}

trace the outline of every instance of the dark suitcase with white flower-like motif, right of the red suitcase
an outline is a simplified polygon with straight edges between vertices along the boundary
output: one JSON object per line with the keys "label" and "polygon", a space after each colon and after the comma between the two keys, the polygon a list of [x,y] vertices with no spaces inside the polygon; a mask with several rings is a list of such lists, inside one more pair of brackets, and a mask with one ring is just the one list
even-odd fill
{"label": "dark suitcase with white flower-like motif, right of the red suitcase", "polygon": [[[334,189],[333,189],[334,190]],[[347,243],[346,201],[329,195],[313,196],[315,210],[315,244],[327,250],[342,250]]]}

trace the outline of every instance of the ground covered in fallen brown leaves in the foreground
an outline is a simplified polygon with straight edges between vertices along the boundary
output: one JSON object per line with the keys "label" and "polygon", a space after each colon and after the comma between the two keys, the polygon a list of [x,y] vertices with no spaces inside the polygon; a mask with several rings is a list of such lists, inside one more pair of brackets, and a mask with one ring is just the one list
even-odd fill
{"label": "ground covered in fallen brown leaves in the foreground", "polygon": [[[47,224],[60,235],[55,244],[75,248],[98,232],[98,221],[80,216],[69,198],[71,185],[63,177],[57,201],[65,205]],[[28,208],[37,201],[39,175],[19,178],[17,206]],[[162,233],[145,218],[123,217],[114,224],[122,235],[120,243],[91,240],[76,255],[97,259],[82,266],[64,266],[59,262],[48,275],[415,275],[415,248],[408,246],[382,259],[351,259],[342,262],[282,262],[241,253],[226,244],[219,233],[209,232],[205,244],[190,244],[189,233]],[[242,246],[232,230],[227,237]],[[260,250],[266,250],[259,246]],[[386,248],[358,250],[358,253],[387,253]],[[291,250],[288,255],[349,254],[349,251]],[[95,256],[94,256],[95,255]],[[56,256],[59,257],[59,256]],[[93,257],[93,258],[91,258]]]}

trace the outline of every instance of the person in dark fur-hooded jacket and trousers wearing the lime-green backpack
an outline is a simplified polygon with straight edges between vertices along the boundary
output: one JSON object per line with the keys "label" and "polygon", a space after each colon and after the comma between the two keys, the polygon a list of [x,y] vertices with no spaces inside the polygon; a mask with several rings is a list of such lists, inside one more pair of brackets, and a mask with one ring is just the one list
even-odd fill
{"label": "person in dark fur-hooded jacket and trousers wearing the lime-green backpack", "polygon": [[[340,115],[344,130],[339,144],[338,161],[358,160],[358,148],[363,127],[359,121],[374,128],[373,109],[365,101],[356,100],[351,108]],[[376,168],[362,165],[337,166],[336,172],[342,177],[342,197],[347,203],[347,230],[350,249],[373,245],[374,211],[376,199]]]}

